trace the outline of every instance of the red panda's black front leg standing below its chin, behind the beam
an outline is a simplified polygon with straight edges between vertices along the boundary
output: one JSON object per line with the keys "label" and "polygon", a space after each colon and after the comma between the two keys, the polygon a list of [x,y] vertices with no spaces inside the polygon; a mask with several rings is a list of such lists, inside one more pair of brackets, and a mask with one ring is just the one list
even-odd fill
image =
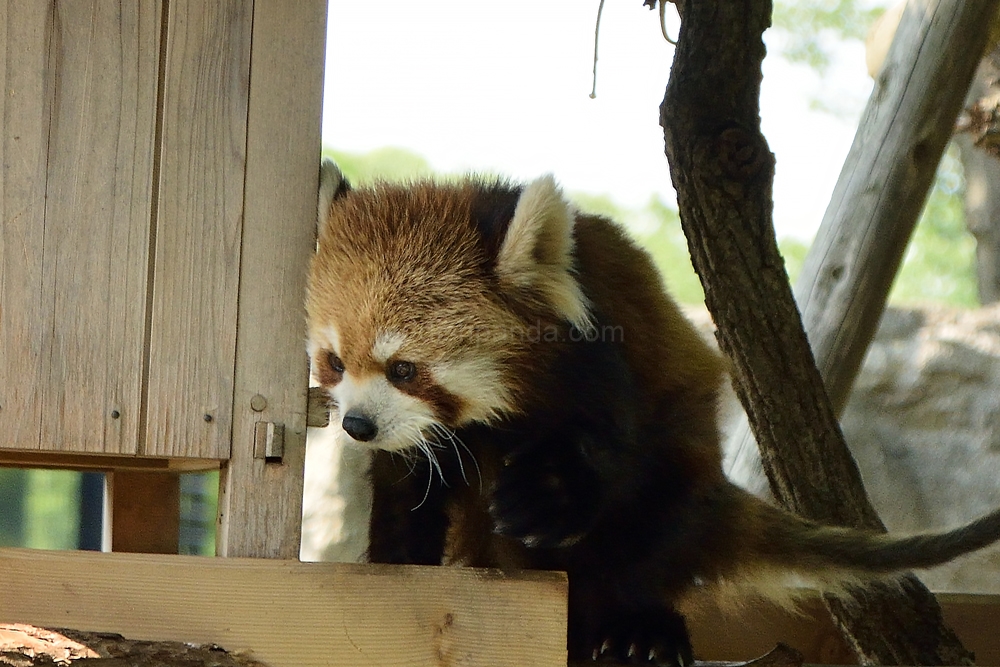
{"label": "red panda's black front leg standing below its chin, behind the beam", "polygon": [[372,514],[368,561],[440,565],[448,518],[444,487],[426,459],[407,461],[377,451],[372,457]]}

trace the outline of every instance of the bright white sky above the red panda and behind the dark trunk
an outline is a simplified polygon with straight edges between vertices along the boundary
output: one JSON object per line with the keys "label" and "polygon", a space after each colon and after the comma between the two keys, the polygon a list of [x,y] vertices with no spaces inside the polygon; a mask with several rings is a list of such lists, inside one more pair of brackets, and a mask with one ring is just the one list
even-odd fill
{"label": "bright white sky above the red panda and behind the dark trunk", "polygon": [[[673,201],[658,124],[673,47],[639,0],[605,3],[590,99],[597,6],[330,0],[324,144],[406,148],[447,172],[519,180],[551,172],[567,190],[624,206],[654,195]],[[765,38],[775,50],[773,32]],[[777,157],[779,237],[812,238],[871,90],[862,47],[837,54],[822,81],[780,57],[764,62],[761,118]],[[819,95],[840,113],[810,110]]]}

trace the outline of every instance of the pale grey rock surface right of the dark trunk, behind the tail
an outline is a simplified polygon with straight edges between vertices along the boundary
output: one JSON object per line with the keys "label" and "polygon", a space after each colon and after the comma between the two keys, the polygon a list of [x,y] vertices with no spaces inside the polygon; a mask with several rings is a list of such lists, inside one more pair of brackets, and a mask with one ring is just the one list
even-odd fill
{"label": "pale grey rock surface right of the dark trunk, behind the tail", "polygon": [[[887,311],[841,423],[890,530],[1000,507],[1000,306]],[[1000,549],[919,574],[935,591],[1000,593]]]}

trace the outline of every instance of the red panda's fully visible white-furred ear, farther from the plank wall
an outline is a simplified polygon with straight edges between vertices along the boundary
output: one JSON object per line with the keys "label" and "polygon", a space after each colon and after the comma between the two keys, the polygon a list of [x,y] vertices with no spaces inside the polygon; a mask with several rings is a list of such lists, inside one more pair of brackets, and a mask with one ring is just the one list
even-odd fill
{"label": "red panda's fully visible white-furred ear, farther from the plank wall", "polygon": [[521,192],[497,254],[500,280],[538,294],[581,331],[591,328],[589,303],[573,274],[573,209],[552,176]]}

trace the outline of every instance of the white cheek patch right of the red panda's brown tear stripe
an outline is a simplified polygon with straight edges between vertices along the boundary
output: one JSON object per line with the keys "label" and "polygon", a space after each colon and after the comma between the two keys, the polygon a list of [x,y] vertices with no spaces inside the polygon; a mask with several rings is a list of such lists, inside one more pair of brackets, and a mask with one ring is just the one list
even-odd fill
{"label": "white cheek patch right of the red panda's brown tear stripe", "polygon": [[462,399],[461,424],[489,422],[510,409],[511,395],[499,369],[489,359],[468,357],[434,364],[431,376]]}

